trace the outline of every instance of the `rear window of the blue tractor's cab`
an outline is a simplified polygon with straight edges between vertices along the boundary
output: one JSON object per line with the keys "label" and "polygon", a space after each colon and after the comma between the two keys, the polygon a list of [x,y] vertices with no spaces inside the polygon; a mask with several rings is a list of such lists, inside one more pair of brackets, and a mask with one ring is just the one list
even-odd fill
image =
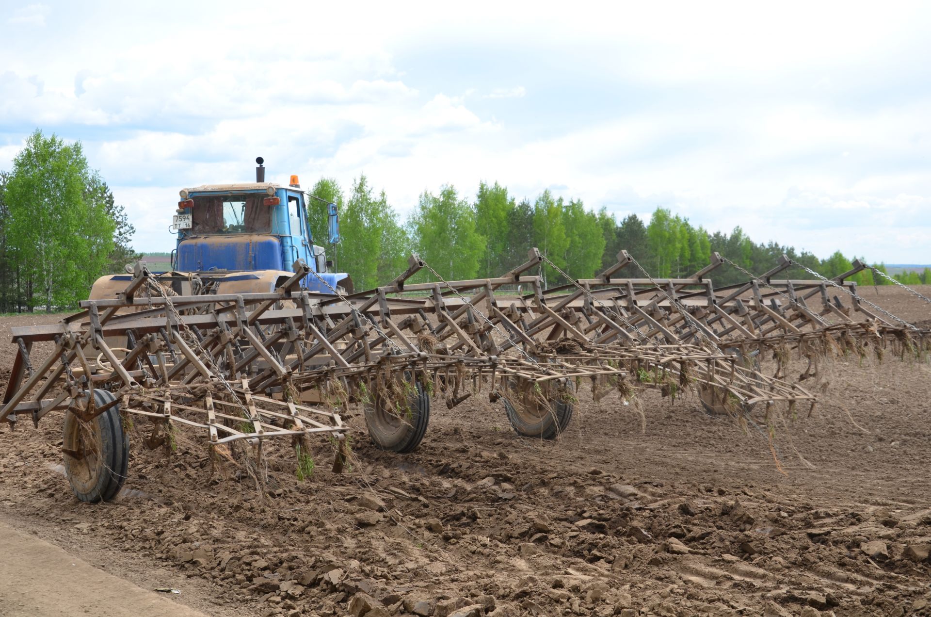
{"label": "rear window of the blue tractor's cab", "polygon": [[263,204],[264,197],[263,193],[194,196],[191,233],[268,233],[272,229],[272,208]]}

